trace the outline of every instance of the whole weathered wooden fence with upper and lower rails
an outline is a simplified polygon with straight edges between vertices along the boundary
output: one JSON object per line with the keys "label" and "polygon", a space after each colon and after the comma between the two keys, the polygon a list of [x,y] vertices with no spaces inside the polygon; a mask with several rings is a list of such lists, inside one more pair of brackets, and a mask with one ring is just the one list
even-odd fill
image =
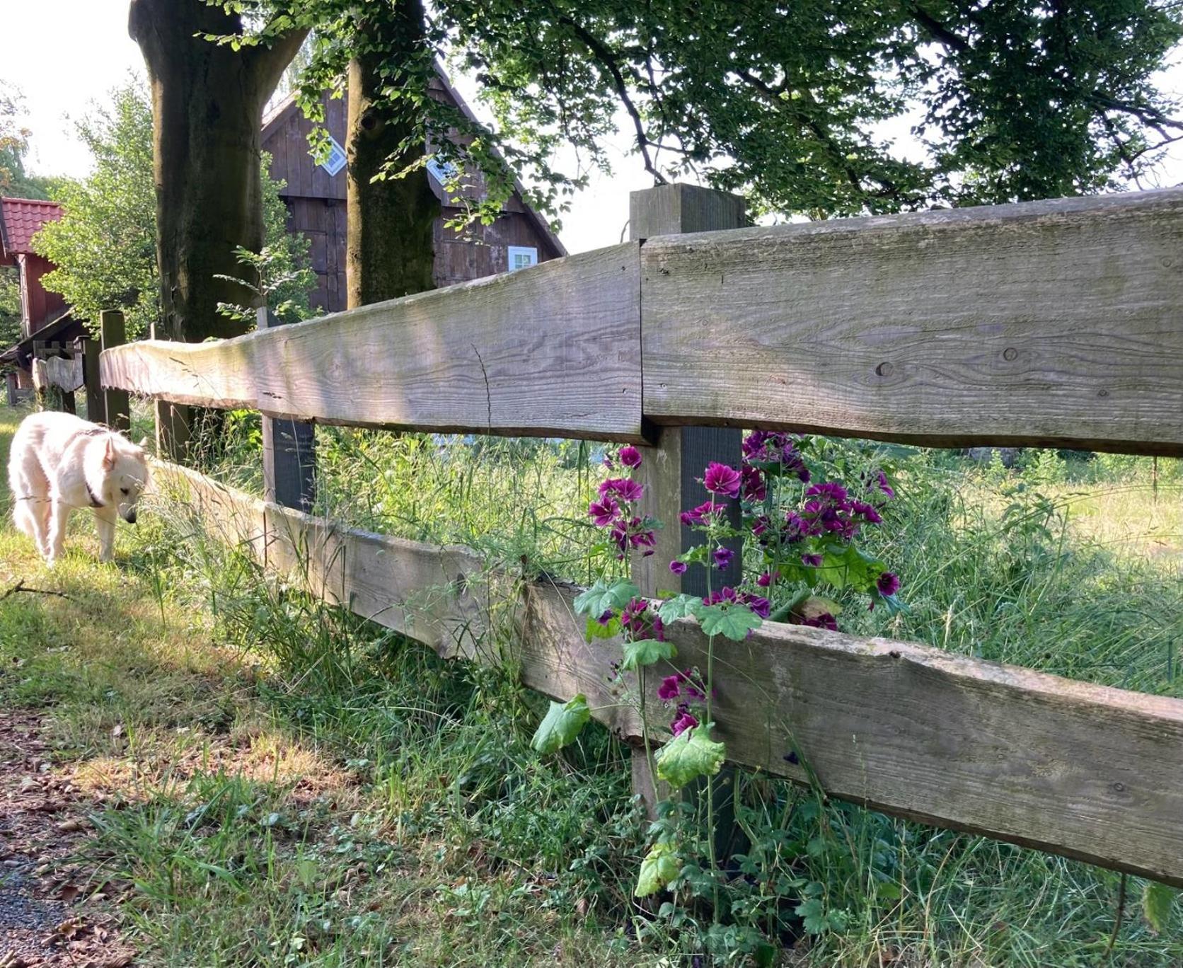
{"label": "whole weathered wooden fence with upper and lower rails", "polygon": [[[638,234],[728,209],[684,186],[639,194]],[[707,439],[680,425],[1183,454],[1181,257],[1181,191],[651,235],[237,340],[116,347],[101,372],[273,418],[646,443],[673,508]],[[717,441],[738,459],[737,437]],[[156,477],[313,594],[444,654],[505,659],[487,589],[512,576],[471,550],[175,464]],[[584,641],[576,591],[521,591],[512,658],[635,742],[636,712],[607,691],[619,643]],[[693,621],[671,637],[680,664],[705,663]],[[715,651],[736,763],[804,781],[796,759],[834,796],[1183,886],[1183,701],[775,622]]]}

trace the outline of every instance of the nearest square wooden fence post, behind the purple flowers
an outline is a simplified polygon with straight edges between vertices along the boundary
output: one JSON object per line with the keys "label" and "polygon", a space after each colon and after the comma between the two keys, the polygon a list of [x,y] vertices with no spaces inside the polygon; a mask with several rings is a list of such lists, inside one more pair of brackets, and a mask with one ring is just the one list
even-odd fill
{"label": "nearest square wooden fence post, behind the purple flowers", "polygon": [[[715,232],[739,228],[744,225],[744,200],[738,195],[699,188],[693,185],[659,185],[629,196],[629,235],[634,240],[652,235],[673,235],[684,232]],[[644,320],[642,320],[644,327]],[[658,531],[655,554],[641,559],[633,579],[641,593],[655,596],[659,592],[686,592],[706,594],[706,577],[702,568],[692,568],[685,575],[670,572],[670,562],[687,550],[696,535],[679,524],[678,515],[706,501],[706,491],[699,478],[703,469],[712,460],[738,466],[742,456],[742,433],[731,427],[664,427],[655,446],[646,448],[640,479],[645,484],[642,514],[660,520],[665,527]],[[732,502],[733,522],[739,528],[739,508]],[[733,538],[729,546],[735,551],[731,564],[718,574],[717,583],[736,585],[741,575],[742,540]],[[716,794],[718,819],[716,844],[726,850],[732,840],[733,809],[731,792],[735,789],[733,772],[725,767],[719,774]],[[633,792],[645,800],[652,815],[657,799],[666,792],[657,788],[644,749],[633,750]]]}

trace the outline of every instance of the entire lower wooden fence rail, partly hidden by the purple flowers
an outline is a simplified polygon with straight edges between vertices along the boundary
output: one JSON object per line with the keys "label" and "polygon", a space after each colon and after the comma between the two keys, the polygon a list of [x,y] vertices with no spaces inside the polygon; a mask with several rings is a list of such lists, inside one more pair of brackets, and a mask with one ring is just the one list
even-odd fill
{"label": "entire lower wooden fence rail, partly hidden by the purple flowers", "polygon": [[[583,692],[618,735],[641,734],[607,682],[620,644],[583,639],[578,589],[526,585],[499,646],[490,612],[512,579],[468,549],[343,528],[176,465],[157,465],[154,480],[215,537],[313,595],[445,656],[509,659],[525,685],[556,699]],[[679,667],[705,667],[697,624],[680,620],[670,637]],[[808,767],[841,799],[1183,886],[1183,701],[776,622],[716,643],[715,660],[718,737],[739,764],[799,782]]]}

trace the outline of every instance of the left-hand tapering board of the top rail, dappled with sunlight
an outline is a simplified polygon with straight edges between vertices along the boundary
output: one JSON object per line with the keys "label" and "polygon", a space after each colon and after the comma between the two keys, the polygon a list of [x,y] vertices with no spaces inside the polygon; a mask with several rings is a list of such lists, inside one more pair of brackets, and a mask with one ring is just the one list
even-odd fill
{"label": "left-hand tapering board of the top rail, dappled with sunlight", "polygon": [[269,415],[640,440],[635,244],[218,343],[102,357],[136,393]]}

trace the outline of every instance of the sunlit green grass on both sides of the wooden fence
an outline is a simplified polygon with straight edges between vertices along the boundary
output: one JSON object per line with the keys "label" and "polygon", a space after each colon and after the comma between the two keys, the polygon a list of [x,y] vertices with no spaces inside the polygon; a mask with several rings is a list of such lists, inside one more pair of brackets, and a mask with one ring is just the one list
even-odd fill
{"label": "sunlit green grass on both sides of the wooden fence", "polygon": [[[0,409],[0,448],[15,420]],[[575,576],[594,564],[583,448],[327,440],[322,501],[342,516]],[[852,631],[1183,696],[1179,480],[1164,464],[1156,503],[1148,466],[909,459],[879,550],[912,611],[862,609]],[[104,798],[89,859],[136,884],[124,928],[149,963],[673,966],[741,950],[702,909],[679,921],[632,899],[645,824],[602,730],[539,757],[544,703],[506,675],[278,588],[182,511],[156,503],[121,527],[115,566],[95,562],[78,515],[53,573],[0,529],[0,594],[69,596],[0,601],[0,703],[44,710],[59,768]],[[733,880],[732,903],[758,912],[780,963],[1104,960],[1116,875],[759,777],[742,801],[759,877]],[[829,931],[802,932],[802,890]],[[1183,964],[1183,918],[1155,934],[1140,890],[1111,963]]]}

